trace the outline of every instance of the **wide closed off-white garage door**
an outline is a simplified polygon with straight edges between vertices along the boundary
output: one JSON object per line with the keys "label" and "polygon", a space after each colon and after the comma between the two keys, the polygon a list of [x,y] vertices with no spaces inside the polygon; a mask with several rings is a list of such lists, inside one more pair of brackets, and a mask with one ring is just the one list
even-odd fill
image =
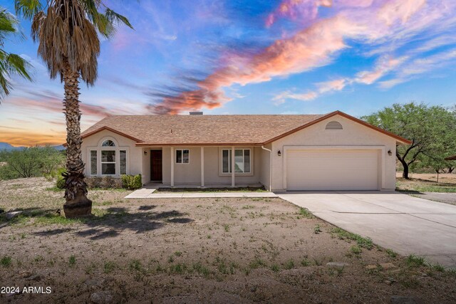
{"label": "wide closed off-white garage door", "polygon": [[377,150],[289,150],[289,190],[377,190]]}

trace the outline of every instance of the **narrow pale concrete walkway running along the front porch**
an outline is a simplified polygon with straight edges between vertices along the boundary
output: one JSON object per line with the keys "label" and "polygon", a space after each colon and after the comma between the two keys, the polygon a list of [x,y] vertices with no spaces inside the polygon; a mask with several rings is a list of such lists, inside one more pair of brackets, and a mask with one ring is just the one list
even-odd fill
{"label": "narrow pale concrete walkway running along the front porch", "polygon": [[278,197],[272,192],[167,192],[154,193],[156,189],[138,189],[125,199],[175,199],[175,198],[207,198],[207,197]]}

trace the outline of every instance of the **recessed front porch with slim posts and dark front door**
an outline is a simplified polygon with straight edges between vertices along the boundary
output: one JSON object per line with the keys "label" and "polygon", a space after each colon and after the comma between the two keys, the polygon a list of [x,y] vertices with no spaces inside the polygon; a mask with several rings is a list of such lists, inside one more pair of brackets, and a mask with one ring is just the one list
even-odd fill
{"label": "recessed front porch with slim posts and dark front door", "polygon": [[269,150],[259,146],[142,147],[142,155],[142,184],[146,189],[269,190]]}

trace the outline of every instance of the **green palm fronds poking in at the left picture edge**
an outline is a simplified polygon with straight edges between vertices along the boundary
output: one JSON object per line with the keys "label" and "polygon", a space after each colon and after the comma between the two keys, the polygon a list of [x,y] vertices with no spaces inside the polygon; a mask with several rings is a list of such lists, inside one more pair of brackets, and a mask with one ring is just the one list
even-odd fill
{"label": "green palm fronds poking in at the left picture edge", "polygon": [[21,56],[4,51],[4,41],[9,36],[18,36],[19,21],[13,14],[0,7],[0,102],[9,95],[12,88],[11,74],[31,80],[27,69],[30,64]]}

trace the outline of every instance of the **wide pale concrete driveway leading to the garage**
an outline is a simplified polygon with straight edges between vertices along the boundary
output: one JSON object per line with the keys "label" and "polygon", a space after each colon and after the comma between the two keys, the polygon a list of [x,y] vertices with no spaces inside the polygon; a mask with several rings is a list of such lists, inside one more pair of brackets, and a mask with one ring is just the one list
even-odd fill
{"label": "wide pale concrete driveway leading to the garage", "polygon": [[399,193],[279,194],[319,218],[408,256],[456,267],[456,206]]}

